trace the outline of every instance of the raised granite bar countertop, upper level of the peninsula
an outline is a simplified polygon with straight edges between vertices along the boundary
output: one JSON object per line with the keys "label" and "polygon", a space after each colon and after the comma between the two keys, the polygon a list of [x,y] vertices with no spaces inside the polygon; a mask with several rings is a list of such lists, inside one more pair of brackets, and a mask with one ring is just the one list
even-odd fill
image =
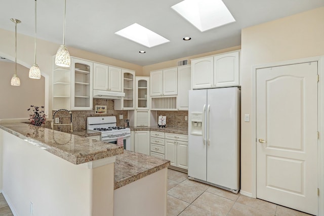
{"label": "raised granite bar countertop, upper level of the peninsula", "polygon": [[123,147],[21,122],[1,123],[0,128],[73,164],[118,154]]}

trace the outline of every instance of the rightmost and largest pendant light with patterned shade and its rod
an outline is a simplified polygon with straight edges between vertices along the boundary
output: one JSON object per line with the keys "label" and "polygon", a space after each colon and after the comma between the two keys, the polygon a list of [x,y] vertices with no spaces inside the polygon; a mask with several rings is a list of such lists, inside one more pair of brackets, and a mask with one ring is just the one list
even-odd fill
{"label": "rightmost and largest pendant light with patterned shade and its rod", "polygon": [[61,67],[69,67],[71,64],[70,54],[65,46],[65,13],[66,0],[64,0],[64,22],[63,22],[63,45],[61,45],[56,53],[55,64]]}

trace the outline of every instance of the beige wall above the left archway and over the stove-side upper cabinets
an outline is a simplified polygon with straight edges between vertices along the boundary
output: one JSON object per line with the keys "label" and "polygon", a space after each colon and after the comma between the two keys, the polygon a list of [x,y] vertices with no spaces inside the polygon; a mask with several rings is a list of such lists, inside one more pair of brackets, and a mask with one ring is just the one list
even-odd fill
{"label": "beige wall above the left archway and over the stove-side upper cabinets", "polygon": [[[0,56],[15,61],[15,33],[0,29],[0,38]],[[37,39],[37,64],[46,78],[45,106],[48,110],[52,110],[52,58],[59,46],[59,44]],[[68,44],[67,47],[71,56],[135,70],[139,74],[142,73],[142,66],[74,49],[69,47]],[[17,62],[26,68],[30,68],[34,63],[34,38],[19,34],[19,30],[17,34]]]}

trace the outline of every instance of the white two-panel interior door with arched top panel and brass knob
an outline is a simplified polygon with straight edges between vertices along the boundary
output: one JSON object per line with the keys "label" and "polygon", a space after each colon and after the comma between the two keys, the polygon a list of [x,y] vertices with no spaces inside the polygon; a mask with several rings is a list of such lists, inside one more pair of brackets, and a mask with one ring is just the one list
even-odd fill
{"label": "white two-panel interior door with arched top panel and brass knob", "polygon": [[257,198],[315,215],[316,77],[311,62],[258,69],[256,79]]}

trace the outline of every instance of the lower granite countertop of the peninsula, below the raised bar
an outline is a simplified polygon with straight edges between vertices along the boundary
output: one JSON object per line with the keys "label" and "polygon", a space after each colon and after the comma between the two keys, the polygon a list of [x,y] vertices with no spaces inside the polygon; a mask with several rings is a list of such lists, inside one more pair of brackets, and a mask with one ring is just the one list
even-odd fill
{"label": "lower granite countertop of the peninsula, below the raised bar", "polygon": [[170,160],[124,150],[114,163],[114,189],[142,179],[170,166]]}

